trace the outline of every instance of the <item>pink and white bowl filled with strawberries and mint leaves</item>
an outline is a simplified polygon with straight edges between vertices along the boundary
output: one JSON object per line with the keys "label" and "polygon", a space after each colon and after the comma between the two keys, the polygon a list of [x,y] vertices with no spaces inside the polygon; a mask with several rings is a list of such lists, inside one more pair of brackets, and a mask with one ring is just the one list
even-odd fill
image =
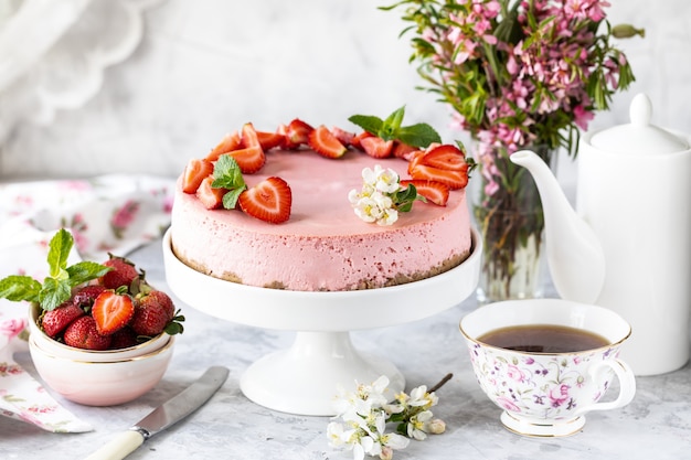
{"label": "pink and white bowl filled with strawberries and mint leaves", "polygon": [[45,384],[91,406],[128,403],[161,379],[184,317],[126,258],[67,265],[65,229],[51,239],[50,275],[0,280],[0,297],[29,301],[29,351]]}

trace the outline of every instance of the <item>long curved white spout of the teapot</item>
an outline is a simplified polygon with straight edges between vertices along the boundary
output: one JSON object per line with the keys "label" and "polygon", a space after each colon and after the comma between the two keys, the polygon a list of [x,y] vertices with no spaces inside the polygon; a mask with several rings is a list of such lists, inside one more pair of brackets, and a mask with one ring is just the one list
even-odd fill
{"label": "long curved white spout of the teapot", "polygon": [[576,214],[546,163],[530,150],[511,161],[532,174],[544,213],[545,246],[552,281],[566,300],[595,303],[605,282],[605,256],[593,229]]}

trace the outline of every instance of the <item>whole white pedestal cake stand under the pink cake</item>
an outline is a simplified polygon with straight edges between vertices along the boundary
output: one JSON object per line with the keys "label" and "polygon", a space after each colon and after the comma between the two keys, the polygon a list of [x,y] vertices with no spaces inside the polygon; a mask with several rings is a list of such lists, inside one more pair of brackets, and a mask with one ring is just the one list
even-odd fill
{"label": "whole white pedestal cake stand under the pink cake", "polygon": [[166,279],[180,300],[206,314],[263,329],[298,331],[288,350],[253,363],[241,378],[244,395],[289,414],[332,416],[339,385],[371,383],[381,375],[392,393],[405,387],[396,366],[357,351],[350,331],[417,321],[449,309],[475,292],[480,238],[458,267],[407,285],[339,292],[258,288],[203,275],[181,263],[163,237]]}

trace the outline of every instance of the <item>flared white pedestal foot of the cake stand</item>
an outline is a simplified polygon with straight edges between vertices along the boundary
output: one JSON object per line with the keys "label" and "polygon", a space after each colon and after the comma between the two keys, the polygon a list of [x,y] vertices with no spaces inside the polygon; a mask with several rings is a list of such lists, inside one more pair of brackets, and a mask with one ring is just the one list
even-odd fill
{"label": "flared white pedestal foot of the cake stand", "polygon": [[293,345],[254,362],[243,374],[240,388],[254,403],[269,409],[308,416],[333,416],[339,385],[354,389],[389,377],[391,399],[405,388],[396,366],[358,352],[348,332],[298,332]]}

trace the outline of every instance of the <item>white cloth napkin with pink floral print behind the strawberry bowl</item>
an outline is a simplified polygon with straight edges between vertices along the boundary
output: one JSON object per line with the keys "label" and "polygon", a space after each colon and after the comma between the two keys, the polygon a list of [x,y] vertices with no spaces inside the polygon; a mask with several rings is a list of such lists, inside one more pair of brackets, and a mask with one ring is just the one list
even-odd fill
{"label": "white cloth napkin with pink floral print behind the strawberry bowl", "polygon": [[[47,272],[47,243],[61,227],[72,232],[73,259],[104,261],[161,236],[170,224],[174,180],[104,175],[89,180],[0,183],[0,279]],[[28,306],[0,299],[0,415],[55,432],[93,429],[62,407],[13,360]]]}

